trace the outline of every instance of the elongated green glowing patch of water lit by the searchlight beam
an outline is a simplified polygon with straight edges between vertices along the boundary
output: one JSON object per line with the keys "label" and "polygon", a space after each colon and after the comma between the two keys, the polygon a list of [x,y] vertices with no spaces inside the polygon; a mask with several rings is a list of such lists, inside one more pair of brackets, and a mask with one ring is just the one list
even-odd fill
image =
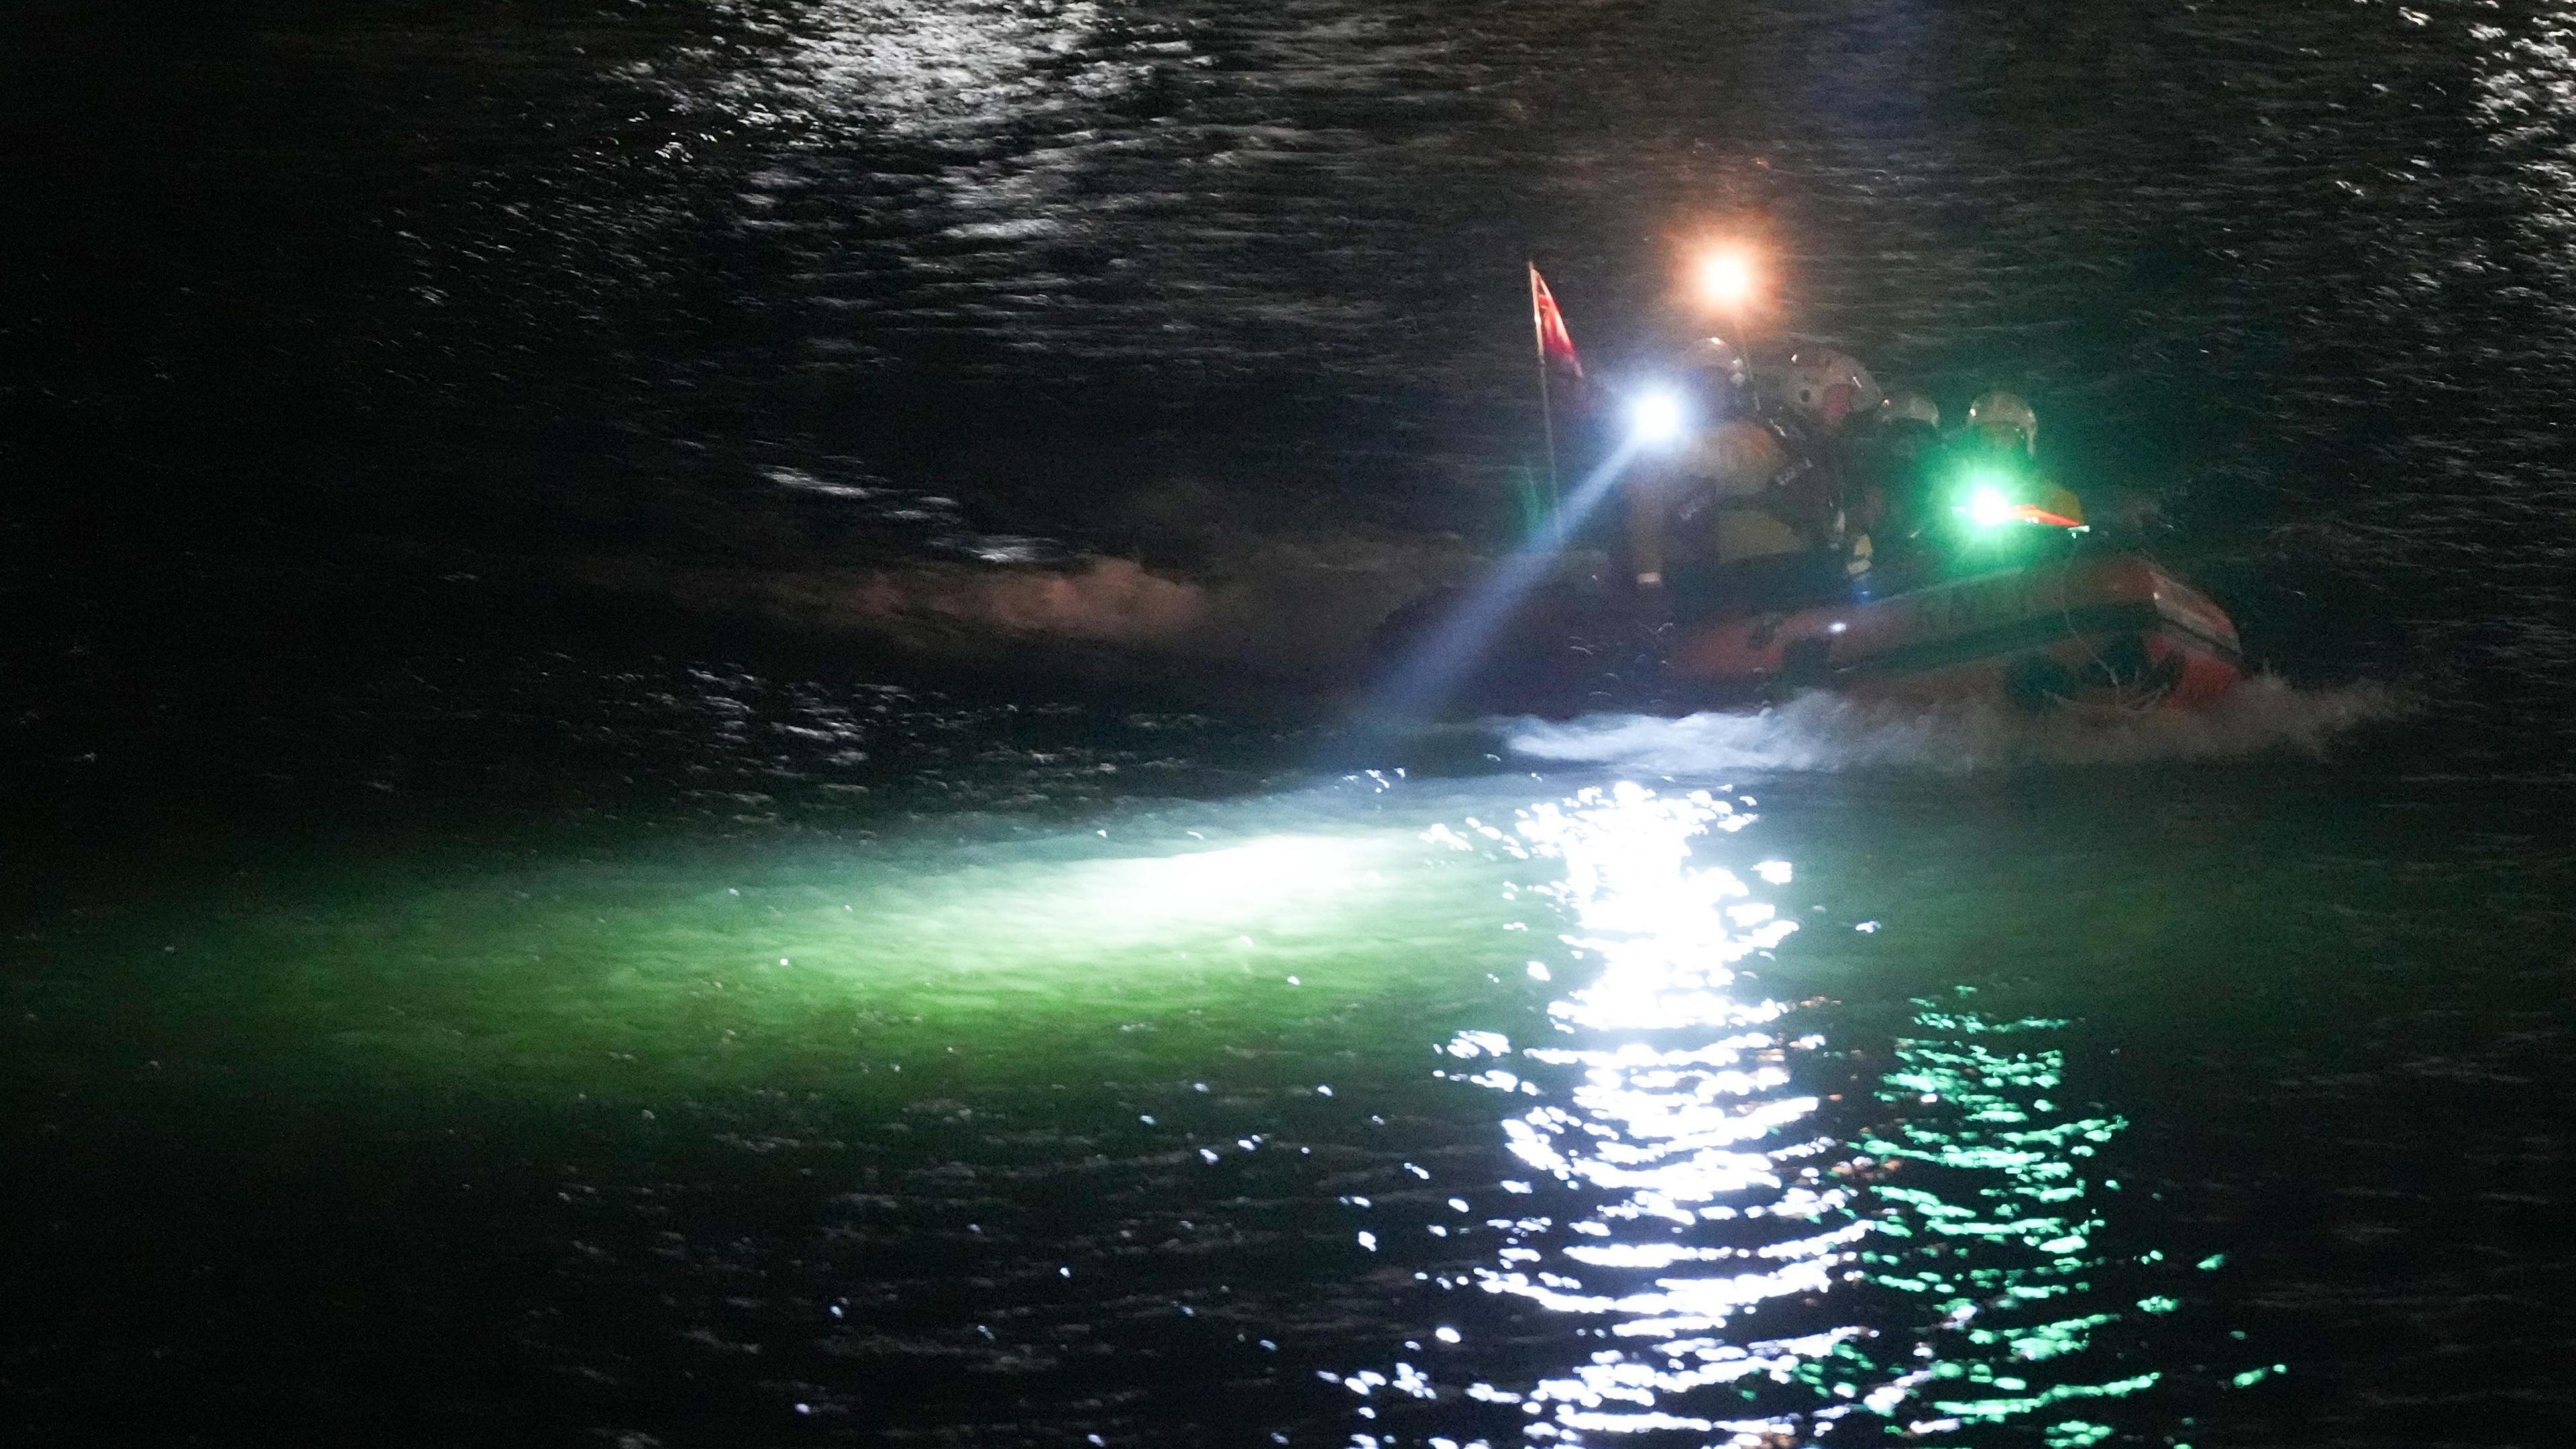
{"label": "elongated green glowing patch of water lit by the searchlight beam", "polygon": [[1373,794],[278,866],[64,931],[15,982],[49,1055],[18,1067],[90,1078],[134,1057],[167,1080],[399,1106],[417,1091],[904,1096],[902,1070],[951,1060],[979,1080],[1079,1078],[1103,1052],[1182,1075],[1216,1039],[1365,1044],[1383,1026],[1363,1006],[1437,1018],[1492,987],[1461,964],[1517,977],[1522,957],[1494,933],[1492,879],[1378,820]]}

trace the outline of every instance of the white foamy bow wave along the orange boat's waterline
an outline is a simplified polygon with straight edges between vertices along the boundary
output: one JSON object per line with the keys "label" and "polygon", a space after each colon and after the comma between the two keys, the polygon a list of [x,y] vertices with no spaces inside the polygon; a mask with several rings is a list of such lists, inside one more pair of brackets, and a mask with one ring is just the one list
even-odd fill
{"label": "white foamy bow wave along the orange boat's waterline", "polygon": [[1893,706],[1806,694],[1759,714],[1589,714],[1522,719],[1504,743],[1528,761],[1600,763],[1651,773],[1700,771],[1940,771],[2143,761],[2233,761],[2269,753],[2324,755],[2370,719],[2403,714],[2378,683],[2298,688],[2257,676],[2200,712],[2120,719],[2027,717],[2002,701]]}

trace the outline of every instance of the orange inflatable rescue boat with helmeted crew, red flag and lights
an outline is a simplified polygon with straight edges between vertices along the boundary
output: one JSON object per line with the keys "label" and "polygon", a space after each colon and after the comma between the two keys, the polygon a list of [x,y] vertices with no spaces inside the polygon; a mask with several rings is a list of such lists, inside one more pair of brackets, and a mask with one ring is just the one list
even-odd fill
{"label": "orange inflatable rescue boat with helmeted crew, red flag and lights", "polygon": [[[1767,333],[1762,278],[1744,245],[1695,258],[1731,335],[1700,327],[1605,387],[1530,268],[1553,508],[1481,583],[1378,629],[1373,714],[1757,709],[1832,688],[2123,717],[2244,678],[2226,611],[2048,474],[2027,402],[1978,394],[1945,431],[1850,353]],[[1558,410],[1592,425],[1558,428]],[[1564,490],[1569,433],[1605,436],[1605,456]],[[1602,534],[1613,562],[1582,567],[1569,541]]]}

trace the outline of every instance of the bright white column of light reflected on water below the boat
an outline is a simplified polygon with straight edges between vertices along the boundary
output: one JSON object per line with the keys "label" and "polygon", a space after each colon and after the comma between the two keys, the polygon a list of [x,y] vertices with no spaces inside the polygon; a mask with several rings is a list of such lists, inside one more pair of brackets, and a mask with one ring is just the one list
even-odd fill
{"label": "bright white column of light reflected on water below the boat", "polygon": [[[1819,1101],[1788,1065],[1819,1042],[1788,1039],[1790,1006],[1744,975],[1747,957],[1795,923],[1734,869],[1695,856],[1698,841],[1752,820],[1710,792],[1620,784],[1525,810],[1510,835],[1484,828],[1510,853],[1564,864],[1543,890],[1566,913],[1564,944],[1589,967],[1548,1006],[1558,1042],[1520,1052],[1571,1085],[1502,1124],[1510,1150],[1566,1189],[1538,1201],[1569,1201],[1571,1214],[1510,1222],[1504,1248],[1473,1274],[1489,1294],[1566,1315],[1587,1343],[1522,1387],[1466,1387],[1471,1400],[1517,1403],[1528,1439],[1795,1434],[1798,1418],[1747,1403],[1757,1395],[1744,1385],[1814,1379],[1865,1333],[1808,1312],[1857,1276],[1870,1232],[1829,1176],[1837,1145],[1808,1122]],[[1468,848],[1448,830],[1435,838]],[[1765,884],[1790,877],[1788,861],[1747,859],[1747,869]],[[1448,1049],[1510,1055],[1494,1034],[1461,1034]],[[1499,1067],[1468,1080],[1548,1096]],[[1777,1315],[1798,1318],[1788,1333],[1749,1330],[1765,1307],[1801,1299],[1801,1312]]]}

